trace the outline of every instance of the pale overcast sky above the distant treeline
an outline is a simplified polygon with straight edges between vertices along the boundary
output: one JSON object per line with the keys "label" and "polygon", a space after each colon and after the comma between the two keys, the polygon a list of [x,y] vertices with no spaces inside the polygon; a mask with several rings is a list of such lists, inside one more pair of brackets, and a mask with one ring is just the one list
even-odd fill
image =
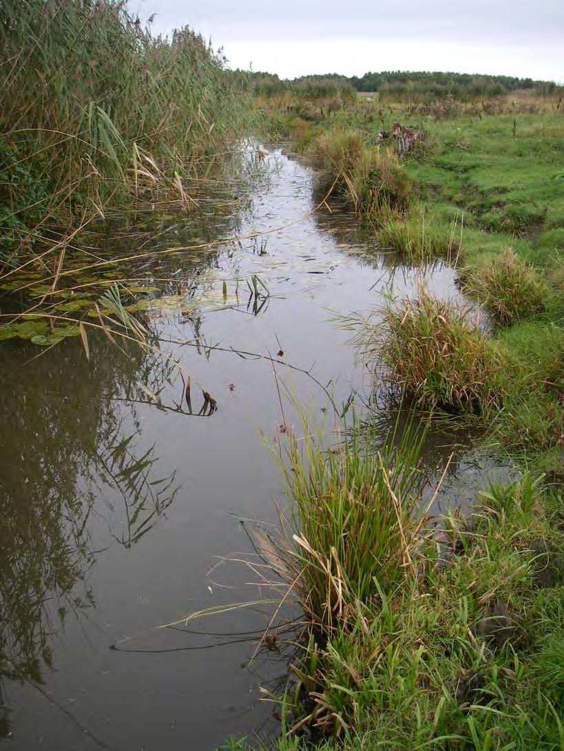
{"label": "pale overcast sky above the distant treeline", "polygon": [[231,67],[281,77],[463,71],[564,82],[564,0],[129,0],[154,32],[189,24]]}

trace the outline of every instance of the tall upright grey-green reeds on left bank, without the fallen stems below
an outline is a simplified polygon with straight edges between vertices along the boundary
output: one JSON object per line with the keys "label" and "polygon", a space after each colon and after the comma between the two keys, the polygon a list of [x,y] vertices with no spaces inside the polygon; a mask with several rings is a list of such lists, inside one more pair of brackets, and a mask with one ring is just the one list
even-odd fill
{"label": "tall upright grey-green reeds on left bank, without the fallen stems below", "polygon": [[118,0],[6,0],[0,50],[5,258],[50,222],[177,198],[221,169],[249,122],[200,35],[154,37]]}

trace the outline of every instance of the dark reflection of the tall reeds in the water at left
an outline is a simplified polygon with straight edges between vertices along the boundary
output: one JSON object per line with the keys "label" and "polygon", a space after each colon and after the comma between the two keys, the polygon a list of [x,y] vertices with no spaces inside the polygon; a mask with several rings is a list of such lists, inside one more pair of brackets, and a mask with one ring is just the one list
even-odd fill
{"label": "dark reflection of the tall reeds in the water at left", "polygon": [[0,735],[11,733],[2,679],[41,684],[44,668],[55,667],[53,632],[69,612],[80,618],[95,607],[95,500],[119,494],[110,534],[131,547],[178,491],[175,472],[159,471],[155,446],[137,448],[135,403],[116,412],[113,402],[134,388],[137,370],[158,391],[170,366],[139,349],[124,357],[103,341],[92,345],[105,351],[90,362],[78,346],[64,355],[54,348],[26,368],[13,350],[0,373]]}

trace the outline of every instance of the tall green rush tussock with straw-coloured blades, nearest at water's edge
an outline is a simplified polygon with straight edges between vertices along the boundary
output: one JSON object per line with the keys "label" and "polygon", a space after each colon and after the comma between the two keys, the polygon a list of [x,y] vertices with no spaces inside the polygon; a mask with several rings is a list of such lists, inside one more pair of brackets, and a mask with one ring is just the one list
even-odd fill
{"label": "tall green rush tussock with straw-coloured blades, nearest at water's edge", "polygon": [[422,436],[409,430],[375,454],[371,427],[331,451],[303,418],[280,457],[291,514],[285,530],[285,578],[312,626],[325,635],[365,602],[379,582],[386,592],[405,578],[420,541],[416,509]]}

